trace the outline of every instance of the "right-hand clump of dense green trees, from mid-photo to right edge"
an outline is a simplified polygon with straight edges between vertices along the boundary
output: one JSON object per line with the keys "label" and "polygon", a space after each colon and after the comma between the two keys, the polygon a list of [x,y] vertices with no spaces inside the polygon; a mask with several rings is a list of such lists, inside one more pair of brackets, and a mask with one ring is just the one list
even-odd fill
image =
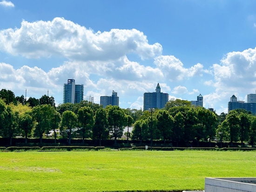
{"label": "right-hand clump of dense green trees, from mid-photo to right edge", "polygon": [[[180,102],[180,104],[178,104]],[[183,102],[183,104],[181,104]],[[151,134],[153,140],[169,140],[175,146],[179,143],[190,141],[209,142],[229,141],[230,146],[234,142],[249,142],[253,146],[256,139],[256,116],[247,113],[245,110],[232,110],[228,114],[216,113],[203,107],[193,107],[186,101],[169,101],[163,110],[157,110],[152,119],[149,118],[150,112],[146,117],[136,120],[132,132],[132,139],[149,140]]]}

